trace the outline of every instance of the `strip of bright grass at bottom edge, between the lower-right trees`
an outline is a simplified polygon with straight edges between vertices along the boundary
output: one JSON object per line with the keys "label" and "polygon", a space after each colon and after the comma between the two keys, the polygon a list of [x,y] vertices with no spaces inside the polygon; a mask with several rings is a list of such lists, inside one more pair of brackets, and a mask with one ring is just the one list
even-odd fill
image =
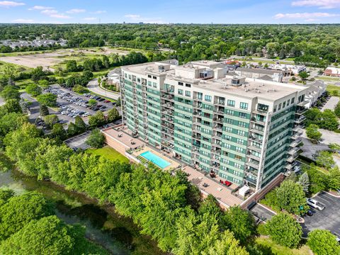
{"label": "strip of bright grass at bottom edge, between the lower-right trees", "polygon": [[300,249],[290,249],[285,246],[275,244],[271,239],[267,237],[258,237],[255,240],[256,244],[259,244],[263,255],[311,255],[312,251],[307,245],[302,245]]}

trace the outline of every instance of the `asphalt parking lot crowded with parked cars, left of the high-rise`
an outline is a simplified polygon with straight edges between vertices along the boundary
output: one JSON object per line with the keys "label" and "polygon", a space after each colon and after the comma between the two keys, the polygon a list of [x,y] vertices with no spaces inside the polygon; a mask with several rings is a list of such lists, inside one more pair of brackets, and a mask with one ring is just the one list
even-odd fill
{"label": "asphalt parking lot crowded with parked cars, left of the high-rise", "polygon": [[[113,103],[106,101],[105,98],[91,94],[80,96],[71,90],[61,88],[57,85],[46,89],[45,92],[57,95],[57,106],[60,108],[60,114],[70,118],[76,118],[77,116],[82,118],[88,117],[94,115],[96,111],[104,112],[113,108]],[[89,105],[90,99],[96,101],[94,106]]]}

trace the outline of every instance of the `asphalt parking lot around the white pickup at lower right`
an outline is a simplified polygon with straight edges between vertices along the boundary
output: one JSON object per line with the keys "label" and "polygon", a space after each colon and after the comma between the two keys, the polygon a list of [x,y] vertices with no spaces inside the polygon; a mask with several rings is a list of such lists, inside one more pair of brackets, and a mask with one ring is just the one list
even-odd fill
{"label": "asphalt parking lot around the white pickup at lower right", "polygon": [[328,229],[340,238],[340,198],[321,192],[314,199],[322,203],[325,208],[322,211],[311,208],[314,214],[306,215],[305,223],[302,224],[304,235],[307,236],[307,233],[313,229]]}

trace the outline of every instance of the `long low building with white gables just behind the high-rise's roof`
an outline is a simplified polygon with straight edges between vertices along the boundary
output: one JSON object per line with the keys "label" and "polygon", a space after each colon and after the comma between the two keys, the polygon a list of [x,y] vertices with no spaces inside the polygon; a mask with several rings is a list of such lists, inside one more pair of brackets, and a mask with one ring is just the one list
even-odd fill
{"label": "long low building with white gables just behind the high-rise's roof", "polygon": [[239,76],[254,78],[254,79],[264,79],[266,81],[277,81],[282,82],[283,72],[280,70],[271,70],[264,68],[243,68],[237,67],[234,69],[234,73]]}

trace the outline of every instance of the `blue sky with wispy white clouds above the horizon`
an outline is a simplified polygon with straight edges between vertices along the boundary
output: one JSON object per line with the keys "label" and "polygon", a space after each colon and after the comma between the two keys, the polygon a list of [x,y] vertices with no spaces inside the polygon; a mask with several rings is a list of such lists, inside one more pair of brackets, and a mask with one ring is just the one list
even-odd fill
{"label": "blue sky with wispy white clouds above the horizon", "polygon": [[340,23],[340,0],[0,0],[0,23]]}

